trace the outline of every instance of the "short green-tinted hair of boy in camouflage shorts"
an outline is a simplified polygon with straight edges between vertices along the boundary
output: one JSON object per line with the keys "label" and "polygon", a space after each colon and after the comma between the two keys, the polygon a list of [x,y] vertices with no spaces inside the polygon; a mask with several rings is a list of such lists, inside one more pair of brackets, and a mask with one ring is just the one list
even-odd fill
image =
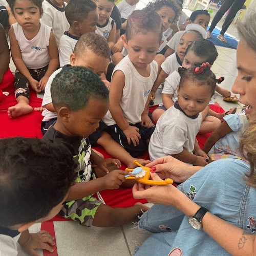
{"label": "short green-tinted hair of boy in camouflage shorts", "polygon": [[67,106],[79,111],[90,98],[109,100],[109,90],[99,76],[84,67],[63,68],[53,79],[51,96],[54,107]]}

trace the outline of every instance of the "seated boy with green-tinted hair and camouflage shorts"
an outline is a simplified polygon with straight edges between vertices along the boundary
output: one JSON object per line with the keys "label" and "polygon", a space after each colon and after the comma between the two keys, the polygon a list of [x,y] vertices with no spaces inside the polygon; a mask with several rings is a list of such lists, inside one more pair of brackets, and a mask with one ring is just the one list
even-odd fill
{"label": "seated boy with green-tinted hair and camouflage shorts", "polygon": [[[75,86],[70,81],[74,81]],[[58,117],[43,139],[65,144],[77,163],[76,184],[59,215],[83,226],[110,227],[122,226],[147,210],[139,203],[125,210],[112,208],[92,197],[101,190],[118,188],[127,174],[118,169],[109,173],[109,169],[119,166],[120,162],[102,159],[91,151],[88,136],[109,109],[109,91],[98,75],[84,67],[63,69],[52,81],[51,95]],[[94,169],[92,164],[97,167]]]}

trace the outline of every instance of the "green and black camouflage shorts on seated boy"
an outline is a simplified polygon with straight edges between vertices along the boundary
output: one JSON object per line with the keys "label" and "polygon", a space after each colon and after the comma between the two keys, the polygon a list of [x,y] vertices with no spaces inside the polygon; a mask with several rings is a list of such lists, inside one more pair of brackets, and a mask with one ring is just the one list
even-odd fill
{"label": "green and black camouflage shorts on seated boy", "polygon": [[69,219],[77,221],[82,226],[92,226],[93,218],[96,214],[96,210],[102,202],[87,196],[79,200],[73,200],[63,203],[59,215]]}

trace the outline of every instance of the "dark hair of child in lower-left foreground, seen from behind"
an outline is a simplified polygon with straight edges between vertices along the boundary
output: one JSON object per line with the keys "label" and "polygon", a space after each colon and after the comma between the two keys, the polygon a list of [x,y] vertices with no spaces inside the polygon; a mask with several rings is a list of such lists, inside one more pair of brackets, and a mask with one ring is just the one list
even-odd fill
{"label": "dark hair of child in lower-left foreground, seen from behind", "polygon": [[0,226],[46,217],[74,184],[68,148],[36,138],[0,140]]}

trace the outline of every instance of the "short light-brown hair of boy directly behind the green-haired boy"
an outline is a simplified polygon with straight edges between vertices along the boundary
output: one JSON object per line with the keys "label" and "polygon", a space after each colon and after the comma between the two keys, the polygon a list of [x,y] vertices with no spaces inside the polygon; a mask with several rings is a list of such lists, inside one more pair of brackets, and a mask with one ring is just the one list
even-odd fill
{"label": "short light-brown hair of boy directly behind the green-haired boy", "polygon": [[98,56],[109,59],[110,48],[108,42],[96,33],[86,33],[79,37],[73,53],[76,56],[85,55],[86,51],[90,49]]}

